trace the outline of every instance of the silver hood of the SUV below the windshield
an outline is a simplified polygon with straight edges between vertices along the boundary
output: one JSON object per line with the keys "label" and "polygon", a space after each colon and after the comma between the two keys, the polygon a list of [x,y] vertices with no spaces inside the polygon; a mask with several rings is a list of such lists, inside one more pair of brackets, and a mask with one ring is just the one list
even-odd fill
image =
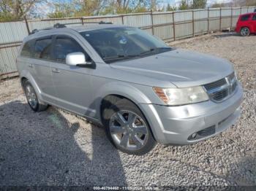
{"label": "silver hood of the SUV below the windshield", "polygon": [[110,66],[138,74],[141,80],[143,77],[151,77],[171,82],[177,87],[204,85],[233,72],[233,66],[222,58],[181,49],[120,61]]}

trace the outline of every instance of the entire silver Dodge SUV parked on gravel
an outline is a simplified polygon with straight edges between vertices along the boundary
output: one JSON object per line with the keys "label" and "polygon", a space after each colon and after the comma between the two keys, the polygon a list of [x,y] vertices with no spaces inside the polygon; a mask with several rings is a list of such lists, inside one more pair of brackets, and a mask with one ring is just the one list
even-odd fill
{"label": "entire silver Dodge SUV parked on gravel", "polygon": [[229,61],[104,22],[34,30],[17,67],[34,112],[50,105],[85,117],[131,155],[216,136],[236,122],[243,97]]}

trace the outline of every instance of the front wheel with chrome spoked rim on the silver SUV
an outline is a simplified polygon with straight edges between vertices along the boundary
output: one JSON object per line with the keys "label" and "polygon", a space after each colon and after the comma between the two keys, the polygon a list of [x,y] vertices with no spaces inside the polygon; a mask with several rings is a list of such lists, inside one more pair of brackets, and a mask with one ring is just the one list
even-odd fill
{"label": "front wheel with chrome spoked rim on the silver SUV", "polygon": [[143,113],[127,99],[120,99],[105,109],[103,119],[108,139],[122,152],[144,155],[156,145]]}

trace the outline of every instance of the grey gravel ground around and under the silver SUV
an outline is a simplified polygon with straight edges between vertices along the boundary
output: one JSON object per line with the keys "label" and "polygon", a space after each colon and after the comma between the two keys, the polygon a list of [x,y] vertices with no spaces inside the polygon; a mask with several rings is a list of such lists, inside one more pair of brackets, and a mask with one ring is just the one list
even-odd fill
{"label": "grey gravel ground around and under the silver SUV", "polygon": [[240,120],[212,139],[118,152],[102,128],[60,109],[34,113],[18,79],[0,84],[0,185],[256,185],[256,36],[211,34],[175,42],[234,63],[244,85]]}

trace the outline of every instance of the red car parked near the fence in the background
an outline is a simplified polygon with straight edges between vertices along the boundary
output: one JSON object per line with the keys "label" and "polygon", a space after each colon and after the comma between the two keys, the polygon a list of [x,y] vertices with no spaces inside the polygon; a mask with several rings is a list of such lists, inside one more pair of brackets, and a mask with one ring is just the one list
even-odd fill
{"label": "red car parked near the fence in the background", "polygon": [[236,32],[241,36],[256,34],[256,12],[240,15],[236,23]]}

